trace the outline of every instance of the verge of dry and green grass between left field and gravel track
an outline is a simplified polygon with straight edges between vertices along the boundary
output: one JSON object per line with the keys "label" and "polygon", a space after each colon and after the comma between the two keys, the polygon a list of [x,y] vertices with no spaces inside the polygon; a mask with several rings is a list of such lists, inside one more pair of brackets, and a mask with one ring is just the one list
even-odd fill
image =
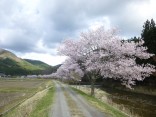
{"label": "verge of dry and green grass between left field and gravel track", "polygon": [[47,117],[46,115],[49,113],[47,111],[53,102],[55,86],[52,81],[47,81],[45,85],[44,87],[40,86],[36,94],[5,113],[3,117],[40,117],[36,113],[40,113],[40,115],[43,113],[45,116],[41,117]]}

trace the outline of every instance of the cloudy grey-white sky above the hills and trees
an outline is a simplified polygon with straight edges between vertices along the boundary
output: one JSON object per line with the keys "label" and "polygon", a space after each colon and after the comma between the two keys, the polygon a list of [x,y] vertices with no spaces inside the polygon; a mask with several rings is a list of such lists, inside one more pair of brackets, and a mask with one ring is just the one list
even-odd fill
{"label": "cloudy grey-white sky above the hills and trees", "polygon": [[60,42],[95,25],[140,36],[147,19],[156,21],[155,0],[0,0],[0,48],[21,58],[56,65]]}

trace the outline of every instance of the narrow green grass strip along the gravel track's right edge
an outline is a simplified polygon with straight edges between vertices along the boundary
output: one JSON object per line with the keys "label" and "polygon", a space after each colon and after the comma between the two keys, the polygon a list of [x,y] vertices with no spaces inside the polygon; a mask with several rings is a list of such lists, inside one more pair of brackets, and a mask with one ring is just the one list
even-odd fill
{"label": "narrow green grass strip along the gravel track's right edge", "polygon": [[72,89],[74,91],[76,91],[78,94],[80,94],[81,96],[83,96],[86,100],[89,101],[89,103],[91,105],[94,105],[95,107],[97,107],[98,109],[100,109],[101,111],[105,112],[105,113],[108,113],[110,114],[111,116],[113,117],[128,117],[128,115],[125,115],[124,113],[122,113],[121,111],[113,108],[112,106],[104,103],[104,102],[101,102],[100,100],[98,100],[97,98],[95,97],[91,97],[90,95],[76,89],[76,88],[73,88]]}

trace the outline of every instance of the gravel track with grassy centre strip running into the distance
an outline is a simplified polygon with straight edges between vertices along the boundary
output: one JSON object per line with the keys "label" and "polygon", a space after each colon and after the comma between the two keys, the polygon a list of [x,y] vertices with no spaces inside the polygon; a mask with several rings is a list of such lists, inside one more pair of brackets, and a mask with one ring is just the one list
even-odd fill
{"label": "gravel track with grassy centre strip running into the distance", "polygon": [[106,117],[66,85],[56,83],[56,96],[50,117]]}

